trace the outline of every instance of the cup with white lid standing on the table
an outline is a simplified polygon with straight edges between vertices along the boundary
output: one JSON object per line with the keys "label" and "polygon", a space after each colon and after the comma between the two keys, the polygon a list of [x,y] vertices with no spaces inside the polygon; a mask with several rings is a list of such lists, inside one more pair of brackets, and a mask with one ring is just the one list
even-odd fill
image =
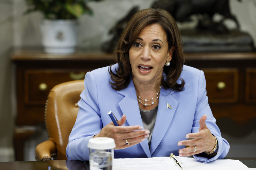
{"label": "cup with white lid standing on the table", "polygon": [[114,159],[115,141],[109,137],[95,137],[88,142],[90,170],[111,170]]}

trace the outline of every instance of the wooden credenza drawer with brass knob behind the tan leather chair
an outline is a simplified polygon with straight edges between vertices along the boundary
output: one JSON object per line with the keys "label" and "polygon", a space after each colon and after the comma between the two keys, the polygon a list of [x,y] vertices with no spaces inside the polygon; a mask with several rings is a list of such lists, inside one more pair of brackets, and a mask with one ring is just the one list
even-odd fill
{"label": "wooden credenza drawer with brass knob behind the tan leather chair", "polygon": [[57,84],[84,79],[90,70],[26,70],[25,71],[25,104],[45,105],[50,90]]}

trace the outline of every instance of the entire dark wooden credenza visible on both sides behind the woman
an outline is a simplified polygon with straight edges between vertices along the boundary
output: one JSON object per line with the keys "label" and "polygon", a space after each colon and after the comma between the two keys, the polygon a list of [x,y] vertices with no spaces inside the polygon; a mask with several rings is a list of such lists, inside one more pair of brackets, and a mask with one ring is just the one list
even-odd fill
{"label": "entire dark wooden credenza visible on both sides behind the woman", "polygon": [[[256,118],[256,53],[187,53],[186,65],[204,71],[207,96],[216,119],[243,124]],[[85,73],[114,62],[112,54],[78,51],[45,54],[40,49],[15,49],[17,116],[14,149],[24,159],[24,141],[44,123],[44,106],[55,85],[84,79]]]}

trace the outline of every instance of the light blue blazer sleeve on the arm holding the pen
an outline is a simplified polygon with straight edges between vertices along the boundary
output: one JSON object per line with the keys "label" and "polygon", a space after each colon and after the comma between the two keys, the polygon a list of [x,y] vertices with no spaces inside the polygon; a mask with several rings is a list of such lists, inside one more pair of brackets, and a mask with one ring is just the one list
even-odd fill
{"label": "light blue blazer sleeve on the arm holding the pen", "polygon": [[77,119],[69,136],[66,156],[68,159],[85,161],[89,160],[88,141],[100,132],[102,121],[98,107],[97,85],[91,72],[85,75],[84,86],[78,102],[80,109]]}

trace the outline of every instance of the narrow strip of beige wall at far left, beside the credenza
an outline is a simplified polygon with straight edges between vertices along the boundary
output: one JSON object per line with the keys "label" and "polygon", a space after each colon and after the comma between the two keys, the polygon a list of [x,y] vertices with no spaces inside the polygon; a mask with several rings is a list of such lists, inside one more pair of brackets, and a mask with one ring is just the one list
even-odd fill
{"label": "narrow strip of beige wall at far left, beside the credenza", "polygon": [[[12,0],[0,0],[0,161],[11,160],[13,113],[13,69],[10,48],[13,45]],[[15,108],[15,106],[14,106]]]}

